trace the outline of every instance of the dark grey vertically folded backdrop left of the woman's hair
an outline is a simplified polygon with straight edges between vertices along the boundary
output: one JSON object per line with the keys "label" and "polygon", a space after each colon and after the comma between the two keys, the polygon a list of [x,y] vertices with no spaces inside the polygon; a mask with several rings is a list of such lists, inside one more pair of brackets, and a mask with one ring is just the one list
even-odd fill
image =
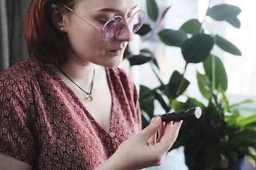
{"label": "dark grey vertically folded backdrop left of the woman's hair", "polygon": [[22,24],[28,2],[29,0],[1,0],[0,70],[28,56],[22,38]]}

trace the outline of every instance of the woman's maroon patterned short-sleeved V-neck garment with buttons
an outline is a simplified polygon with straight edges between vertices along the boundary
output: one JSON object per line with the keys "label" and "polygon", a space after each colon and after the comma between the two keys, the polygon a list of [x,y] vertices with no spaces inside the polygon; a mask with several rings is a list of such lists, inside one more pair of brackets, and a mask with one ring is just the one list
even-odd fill
{"label": "woman's maroon patterned short-sleeved V-neck garment with buttons", "polygon": [[0,152],[33,169],[94,169],[141,131],[138,94],[122,69],[107,69],[110,133],[49,66],[29,58],[0,72]]}

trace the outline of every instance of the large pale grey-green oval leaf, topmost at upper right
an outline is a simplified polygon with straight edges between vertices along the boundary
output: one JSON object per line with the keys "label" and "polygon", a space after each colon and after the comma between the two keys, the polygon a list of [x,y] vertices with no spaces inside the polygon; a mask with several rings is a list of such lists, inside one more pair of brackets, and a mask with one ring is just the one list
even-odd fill
{"label": "large pale grey-green oval leaf, topmost at upper right", "polygon": [[207,10],[209,17],[214,20],[230,20],[241,13],[241,9],[231,4],[218,4]]}

